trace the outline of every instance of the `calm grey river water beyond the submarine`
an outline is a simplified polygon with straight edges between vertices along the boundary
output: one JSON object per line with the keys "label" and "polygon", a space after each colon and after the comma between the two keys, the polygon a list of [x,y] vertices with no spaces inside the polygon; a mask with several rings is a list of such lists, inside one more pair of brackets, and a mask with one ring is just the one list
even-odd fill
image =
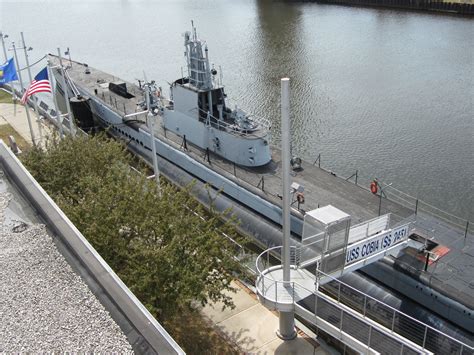
{"label": "calm grey river water beyond the submarine", "polygon": [[326,169],[358,169],[474,221],[472,19],[283,1],[0,0],[7,43],[23,31],[31,61],[70,47],[75,60],[163,88],[181,75],[191,20],[228,96],[272,120],[273,143],[288,76],[295,155],[321,154]]}

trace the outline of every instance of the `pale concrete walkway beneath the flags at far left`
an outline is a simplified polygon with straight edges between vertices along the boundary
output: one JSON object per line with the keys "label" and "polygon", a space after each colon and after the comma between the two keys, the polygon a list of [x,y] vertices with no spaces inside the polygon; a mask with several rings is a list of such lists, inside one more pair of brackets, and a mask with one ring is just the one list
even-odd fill
{"label": "pale concrete walkway beneath the flags at far left", "polygon": [[[33,109],[30,108],[31,126],[36,143],[44,144],[46,137],[52,134],[51,129],[43,120],[38,118]],[[32,144],[30,127],[26,116],[26,109],[20,104],[0,103],[0,125],[8,123],[29,144]]]}

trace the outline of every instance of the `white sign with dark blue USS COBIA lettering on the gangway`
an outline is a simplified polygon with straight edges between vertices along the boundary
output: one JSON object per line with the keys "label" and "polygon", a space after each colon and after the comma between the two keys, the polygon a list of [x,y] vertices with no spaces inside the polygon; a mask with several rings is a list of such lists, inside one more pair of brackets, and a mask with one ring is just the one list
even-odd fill
{"label": "white sign with dark blue USS COBIA lettering on the gangway", "polygon": [[408,239],[408,224],[376,234],[347,247],[346,264],[361,261]]}

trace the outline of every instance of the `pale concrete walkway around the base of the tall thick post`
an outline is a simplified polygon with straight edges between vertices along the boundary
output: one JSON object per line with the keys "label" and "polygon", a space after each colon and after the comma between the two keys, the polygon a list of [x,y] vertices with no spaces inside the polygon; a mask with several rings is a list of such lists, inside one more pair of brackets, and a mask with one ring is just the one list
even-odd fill
{"label": "pale concrete walkway around the base of the tall thick post", "polygon": [[291,341],[277,337],[278,315],[262,306],[255,294],[239,282],[233,282],[236,293],[228,292],[234,309],[222,310],[222,304],[207,305],[202,313],[215,328],[246,354],[330,354],[315,340],[298,330]]}

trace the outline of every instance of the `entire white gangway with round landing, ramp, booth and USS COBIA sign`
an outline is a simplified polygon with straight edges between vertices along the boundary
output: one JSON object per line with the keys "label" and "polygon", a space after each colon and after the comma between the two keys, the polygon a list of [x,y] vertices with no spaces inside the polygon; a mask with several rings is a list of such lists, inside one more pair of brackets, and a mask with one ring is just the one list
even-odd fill
{"label": "entire white gangway with round landing, ramp, booth and USS COBIA sign", "polygon": [[[274,263],[281,246],[258,256],[260,302],[271,310],[295,312],[364,354],[474,353],[469,345],[337,279],[406,246],[409,225],[389,224],[385,215],[350,228],[350,216],[332,206],[308,212],[302,247],[290,249],[291,281],[283,281],[283,265]],[[324,284],[331,286],[325,292]]]}

